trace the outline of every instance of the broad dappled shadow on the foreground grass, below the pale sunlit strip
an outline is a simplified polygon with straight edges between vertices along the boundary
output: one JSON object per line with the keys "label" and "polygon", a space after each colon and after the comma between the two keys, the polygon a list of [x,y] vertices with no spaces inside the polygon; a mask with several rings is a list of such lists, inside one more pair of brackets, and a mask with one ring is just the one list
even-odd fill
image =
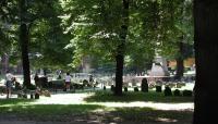
{"label": "broad dappled shadow on the foreground grass, below the pale sunlit strip", "polygon": [[0,107],[0,120],[96,122],[126,124],[191,124],[192,111],[161,111],[150,108],[106,108],[96,104],[28,104]]}

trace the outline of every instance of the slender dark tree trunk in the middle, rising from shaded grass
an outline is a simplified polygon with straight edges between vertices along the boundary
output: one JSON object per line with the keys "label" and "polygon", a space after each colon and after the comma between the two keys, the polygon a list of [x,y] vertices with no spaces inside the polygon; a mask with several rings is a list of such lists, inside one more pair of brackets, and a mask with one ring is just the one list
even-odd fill
{"label": "slender dark tree trunk in the middle, rising from shaded grass", "polygon": [[123,0],[123,24],[121,26],[121,45],[117,48],[117,55],[116,55],[116,62],[117,62],[117,69],[116,69],[116,96],[122,95],[122,84],[123,84],[123,64],[124,64],[124,52],[125,52],[125,40],[128,36],[128,27],[129,27],[129,0]]}

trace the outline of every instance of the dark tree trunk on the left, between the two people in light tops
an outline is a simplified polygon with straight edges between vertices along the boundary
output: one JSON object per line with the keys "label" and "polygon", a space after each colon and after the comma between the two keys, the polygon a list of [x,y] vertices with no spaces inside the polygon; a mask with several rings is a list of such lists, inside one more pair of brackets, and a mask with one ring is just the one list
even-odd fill
{"label": "dark tree trunk on the left, between the two people in light tops", "polygon": [[29,72],[29,60],[28,60],[28,28],[26,24],[26,0],[20,0],[20,44],[22,50],[22,64],[23,64],[23,76],[24,86],[27,88],[31,86],[31,72]]}

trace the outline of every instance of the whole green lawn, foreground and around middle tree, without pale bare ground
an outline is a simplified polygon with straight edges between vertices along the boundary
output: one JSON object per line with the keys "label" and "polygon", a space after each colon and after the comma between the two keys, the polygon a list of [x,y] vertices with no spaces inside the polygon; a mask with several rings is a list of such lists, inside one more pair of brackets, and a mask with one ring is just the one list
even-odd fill
{"label": "whole green lawn, foreground and around middle tree, without pale bare ground", "polygon": [[24,121],[97,121],[99,123],[161,123],[191,124],[193,110],[157,110],[147,107],[106,107],[98,102],[153,101],[165,103],[193,102],[192,97],[165,97],[150,91],[124,92],[116,97],[110,91],[96,91],[81,104],[34,104],[29,99],[0,99],[1,120]]}

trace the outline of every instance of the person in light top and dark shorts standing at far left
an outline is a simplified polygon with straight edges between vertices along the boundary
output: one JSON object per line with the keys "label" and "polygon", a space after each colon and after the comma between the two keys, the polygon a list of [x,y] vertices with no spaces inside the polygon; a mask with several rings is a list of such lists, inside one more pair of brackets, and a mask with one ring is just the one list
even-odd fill
{"label": "person in light top and dark shorts standing at far left", "polygon": [[13,75],[7,71],[5,74],[5,86],[7,86],[7,98],[9,98],[11,96],[11,90],[12,90],[12,85],[13,85]]}

